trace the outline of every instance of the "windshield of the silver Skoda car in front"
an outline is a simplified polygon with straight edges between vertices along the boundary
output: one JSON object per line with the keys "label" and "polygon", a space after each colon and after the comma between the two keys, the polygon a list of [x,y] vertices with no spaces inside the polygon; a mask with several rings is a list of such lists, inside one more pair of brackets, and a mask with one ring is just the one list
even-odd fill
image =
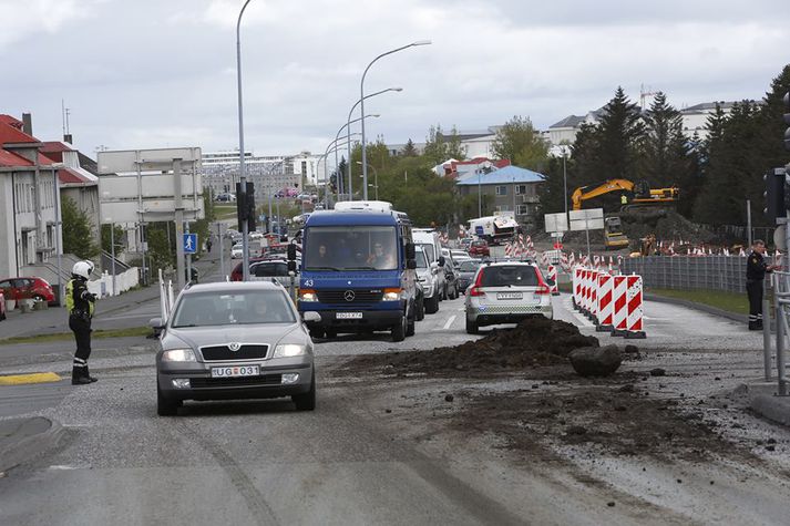
{"label": "windshield of the silver Skoda car in front", "polygon": [[172,327],[295,322],[289,299],[281,290],[206,291],[182,296]]}

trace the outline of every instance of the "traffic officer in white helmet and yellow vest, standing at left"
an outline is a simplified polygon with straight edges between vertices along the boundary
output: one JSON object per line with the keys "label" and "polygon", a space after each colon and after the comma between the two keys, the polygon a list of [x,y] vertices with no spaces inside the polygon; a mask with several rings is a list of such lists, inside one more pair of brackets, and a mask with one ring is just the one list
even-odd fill
{"label": "traffic officer in white helmet and yellow vest, standing at left", "polygon": [[69,310],[69,329],[74,332],[76,352],[71,369],[71,384],[82,385],[95,382],[88,371],[91,355],[91,318],[96,297],[88,291],[88,278],[93,271],[91,261],[78,261],[71,270],[71,279],[65,286],[65,307]]}

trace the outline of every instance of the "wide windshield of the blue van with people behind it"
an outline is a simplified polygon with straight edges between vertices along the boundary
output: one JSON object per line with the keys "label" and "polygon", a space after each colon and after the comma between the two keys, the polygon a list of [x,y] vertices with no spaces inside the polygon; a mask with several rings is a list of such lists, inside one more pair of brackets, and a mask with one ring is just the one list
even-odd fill
{"label": "wide windshield of the blue van with people behind it", "polygon": [[396,270],[398,249],[394,227],[310,227],[302,259],[306,270]]}

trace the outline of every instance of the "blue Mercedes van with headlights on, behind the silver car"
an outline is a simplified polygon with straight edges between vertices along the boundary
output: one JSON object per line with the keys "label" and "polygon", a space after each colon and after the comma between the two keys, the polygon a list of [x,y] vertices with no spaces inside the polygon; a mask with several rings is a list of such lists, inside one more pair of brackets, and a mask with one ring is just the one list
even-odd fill
{"label": "blue Mercedes van with headlights on, behind the silver car", "polygon": [[308,322],[314,338],[387,330],[402,341],[424,317],[411,223],[361,204],[338,203],[305,224],[297,307],[321,314]]}

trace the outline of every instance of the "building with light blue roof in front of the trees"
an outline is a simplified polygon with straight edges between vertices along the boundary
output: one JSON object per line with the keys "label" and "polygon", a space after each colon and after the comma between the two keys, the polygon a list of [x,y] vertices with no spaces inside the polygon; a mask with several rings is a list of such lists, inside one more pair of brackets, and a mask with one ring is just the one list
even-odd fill
{"label": "building with light blue roof in front of the trees", "polygon": [[522,225],[533,224],[537,213],[537,185],[545,176],[519,166],[499,169],[478,169],[460,177],[455,185],[463,196],[481,196],[483,216],[515,215]]}

